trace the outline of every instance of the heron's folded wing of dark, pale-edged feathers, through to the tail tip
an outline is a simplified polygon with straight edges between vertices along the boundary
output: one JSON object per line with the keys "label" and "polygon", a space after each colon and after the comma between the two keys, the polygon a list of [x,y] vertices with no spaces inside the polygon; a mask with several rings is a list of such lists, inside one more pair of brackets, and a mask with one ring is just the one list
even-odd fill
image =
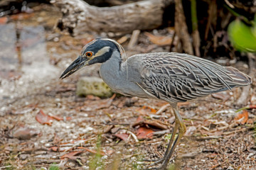
{"label": "heron's folded wing of dark, pale-edged feathers, through to the tail tip", "polygon": [[250,77],[238,69],[192,55],[158,52],[134,58],[140,74],[137,84],[147,94],[169,102],[193,100],[250,84]]}

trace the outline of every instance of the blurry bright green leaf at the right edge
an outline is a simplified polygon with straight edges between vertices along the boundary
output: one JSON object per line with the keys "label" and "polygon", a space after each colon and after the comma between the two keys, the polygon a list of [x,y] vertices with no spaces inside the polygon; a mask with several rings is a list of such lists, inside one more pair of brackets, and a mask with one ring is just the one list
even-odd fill
{"label": "blurry bright green leaf at the right edge", "polygon": [[235,20],[228,26],[228,35],[237,50],[256,52],[256,26],[250,27]]}

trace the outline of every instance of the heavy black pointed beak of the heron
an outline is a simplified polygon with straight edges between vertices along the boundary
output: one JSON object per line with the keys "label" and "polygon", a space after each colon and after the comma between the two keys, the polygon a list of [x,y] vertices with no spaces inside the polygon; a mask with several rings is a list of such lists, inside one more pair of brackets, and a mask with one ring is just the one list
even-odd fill
{"label": "heavy black pointed beak of the heron", "polygon": [[70,66],[65,69],[63,74],[61,74],[60,79],[65,79],[66,77],[70,76],[74,72],[78,71],[78,69],[84,67],[87,65],[87,58],[85,57],[78,57]]}

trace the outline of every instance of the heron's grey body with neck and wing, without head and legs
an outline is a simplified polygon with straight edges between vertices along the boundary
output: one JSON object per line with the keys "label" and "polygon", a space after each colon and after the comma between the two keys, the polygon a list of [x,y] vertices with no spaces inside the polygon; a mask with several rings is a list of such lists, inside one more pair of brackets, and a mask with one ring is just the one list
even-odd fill
{"label": "heron's grey body with neck and wing, without head and legs", "polygon": [[238,69],[222,67],[192,55],[148,53],[129,57],[120,67],[113,66],[119,63],[120,57],[111,57],[103,63],[100,73],[114,91],[130,96],[177,103],[251,82],[250,77]]}

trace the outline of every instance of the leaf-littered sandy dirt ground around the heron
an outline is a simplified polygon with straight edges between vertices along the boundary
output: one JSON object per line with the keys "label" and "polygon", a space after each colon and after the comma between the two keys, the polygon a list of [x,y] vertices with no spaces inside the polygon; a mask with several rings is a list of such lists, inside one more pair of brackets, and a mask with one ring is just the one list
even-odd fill
{"label": "leaf-littered sandy dirt ground around the heron", "polygon": [[[137,97],[76,96],[78,79],[99,77],[99,65],[64,80],[60,74],[83,45],[110,35],[70,37],[54,29],[59,16],[41,5],[0,25],[0,169],[142,169],[143,159],[161,158],[174,127],[171,108]],[[171,30],[149,33],[168,36]],[[132,50],[128,41],[122,45],[128,56],[169,50],[144,32]],[[233,66],[248,69],[246,62]],[[256,90],[248,108],[238,111],[245,107],[235,104],[240,93],[237,88],[179,104],[187,132],[170,169],[256,169]]]}

